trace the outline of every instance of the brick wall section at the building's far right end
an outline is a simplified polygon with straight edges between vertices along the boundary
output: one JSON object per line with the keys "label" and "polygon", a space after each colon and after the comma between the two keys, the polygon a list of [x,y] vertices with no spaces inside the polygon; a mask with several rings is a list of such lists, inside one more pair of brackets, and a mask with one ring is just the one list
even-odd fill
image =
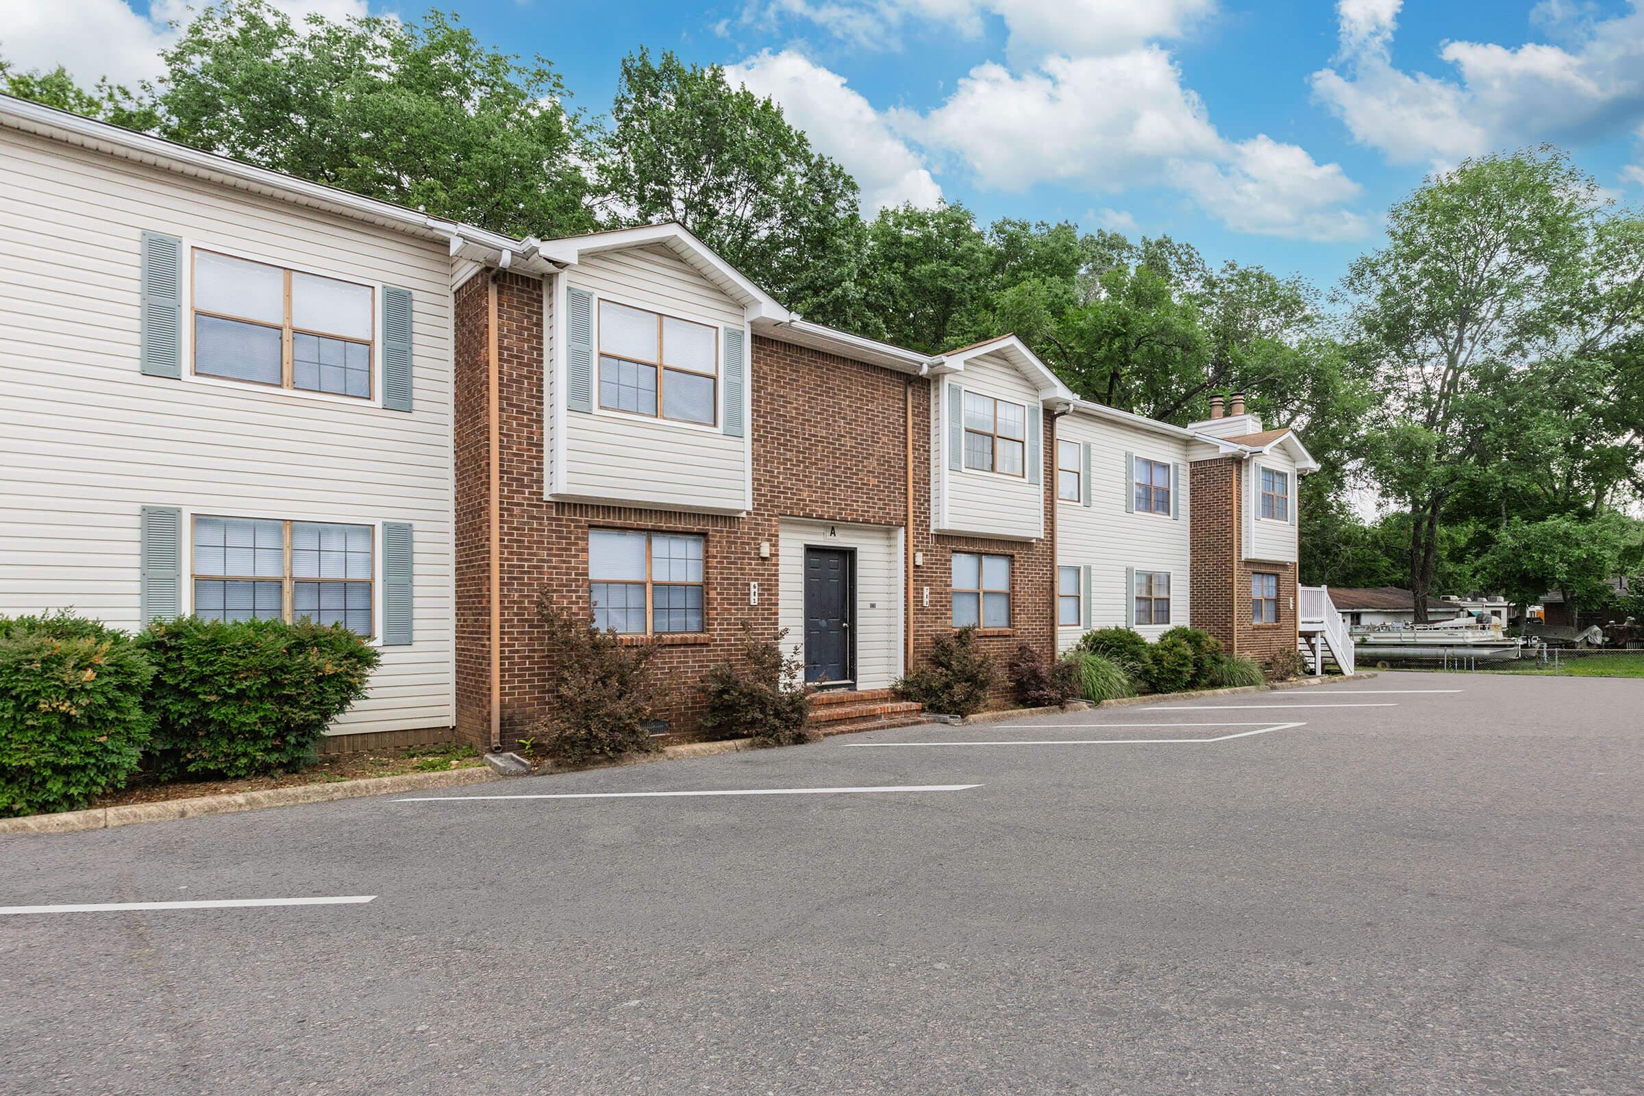
{"label": "brick wall section at the building's far right end", "polygon": [[[1192,616],[1221,641],[1230,654],[1266,662],[1281,651],[1295,651],[1295,564],[1246,560],[1240,544],[1243,506],[1240,462],[1233,457],[1192,465]],[[1251,621],[1251,575],[1279,575],[1279,623]]]}

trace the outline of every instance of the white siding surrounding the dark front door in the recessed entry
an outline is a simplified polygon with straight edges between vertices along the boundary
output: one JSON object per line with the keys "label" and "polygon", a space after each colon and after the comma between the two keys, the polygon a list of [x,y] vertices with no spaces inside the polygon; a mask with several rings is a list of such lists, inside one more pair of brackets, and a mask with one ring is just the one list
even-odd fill
{"label": "white siding surrounding the dark front door in the recessed entry", "polygon": [[[832,536],[830,536],[832,534]],[[783,649],[801,659],[806,644],[806,546],[857,549],[857,688],[888,688],[903,675],[903,531],[888,526],[784,518],[778,537],[778,624]]]}

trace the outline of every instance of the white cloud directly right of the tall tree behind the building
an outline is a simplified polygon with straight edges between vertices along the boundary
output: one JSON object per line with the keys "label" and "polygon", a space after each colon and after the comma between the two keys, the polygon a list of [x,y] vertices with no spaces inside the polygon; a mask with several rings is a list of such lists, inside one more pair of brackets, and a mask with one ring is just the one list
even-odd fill
{"label": "white cloud directly right of the tall tree behind the building", "polygon": [[891,133],[884,118],[845,77],[812,64],[791,49],[761,53],[725,67],[732,84],[769,95],[810,145],[850,171],[861,186],[865,210],[881,205],[935,205],[942,187],[921,156]]}

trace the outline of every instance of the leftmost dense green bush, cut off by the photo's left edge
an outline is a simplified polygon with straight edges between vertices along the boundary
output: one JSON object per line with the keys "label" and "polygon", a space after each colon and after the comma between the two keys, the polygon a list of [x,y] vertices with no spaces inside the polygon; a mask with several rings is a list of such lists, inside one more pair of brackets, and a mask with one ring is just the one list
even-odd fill
{"label": "leftmost dense green bush, cut off by the photo's left edge", "polygon": [[153,669],[125,633],[56,613],[0,616],[0,817],[79,810],[143,756]]}

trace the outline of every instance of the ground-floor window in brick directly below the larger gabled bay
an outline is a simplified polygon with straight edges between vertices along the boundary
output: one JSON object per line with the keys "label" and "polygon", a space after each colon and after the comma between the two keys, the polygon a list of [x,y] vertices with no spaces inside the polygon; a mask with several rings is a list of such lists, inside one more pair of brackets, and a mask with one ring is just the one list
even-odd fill
{"label": "ground-floor window in brick directly below the larger gabled bay", "polygon": [[702,537],[589,531],[589,603],[600,631],[705,631],[702,598]]}

